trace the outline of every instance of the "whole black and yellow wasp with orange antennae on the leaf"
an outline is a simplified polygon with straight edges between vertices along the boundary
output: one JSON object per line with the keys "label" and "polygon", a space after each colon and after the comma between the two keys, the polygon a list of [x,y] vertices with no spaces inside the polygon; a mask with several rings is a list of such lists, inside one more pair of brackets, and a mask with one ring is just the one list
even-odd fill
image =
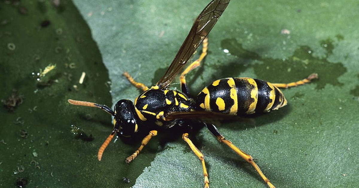
{"label": "whole black and yellow wasp with orange antennae on the leaf", "polygon": [[[199,119],[241,116],[277,110],[287,104],[287,100],[279,88],[308,83],[311,79],[317,78],[317,74],[311,74],[301,81],[288,84],[270,83],[252,78],[223,78],[212,82],[197,97],[191,98],[186,84],[186,74],[198,67],[206,56],[208,49],[206,37],[223,14],[229,1],[213,0],[202,10],[171,65],[155,86],[148,88],[145,84],[136,82],[129,73],[123,73],[131,84],[143,90],[143,93],[135,98],[134,102],[131,100],[120,100],[116,103],[115,109],[112,110],[106,105],[93,102],[68,100],[73,105],[98,107],[114,116],[113,130],[98,150],[97,156],[99,161],[102,159],[105,148],[115,134],[119,137],[131,137],[144,126],[151,129],[148,135],[143,138],[141,146],[132,155],[127,157],[126,162],[129,163],[137,157],[144,146],[158,132],[177,127],[183,131],[183,140],[201,161],[204,187],[208,188],[209,179],[204,155],[188,138],[188,132],[192,126],[203,125],[209,129],[219,142],[229,146],[234,152],[250,163],[266,184],[274,188],[274,185],[262,173],[250,155],[225,139],[214,124],[206,123]],[[181,72],[202,42],[202,53],[199,59],[192,62],[180,75],[181,91],[168,89],[174,77]]]}

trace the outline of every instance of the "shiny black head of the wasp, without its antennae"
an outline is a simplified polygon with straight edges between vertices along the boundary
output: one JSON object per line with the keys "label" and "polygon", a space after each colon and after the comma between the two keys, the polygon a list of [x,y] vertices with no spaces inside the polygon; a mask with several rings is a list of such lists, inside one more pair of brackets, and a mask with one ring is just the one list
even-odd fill
{"label": "shiny black head of the wasp, without its antennae", "polygon": [[115,128],[121,136],[129,137],[137,132],[135,108],[130,100],[119,100],[115,105]]}

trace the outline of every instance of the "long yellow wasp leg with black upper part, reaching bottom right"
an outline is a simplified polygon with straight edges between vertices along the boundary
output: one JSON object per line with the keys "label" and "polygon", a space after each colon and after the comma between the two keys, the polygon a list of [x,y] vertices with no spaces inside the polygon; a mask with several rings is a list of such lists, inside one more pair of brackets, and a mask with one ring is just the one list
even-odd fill
{"label": "long yellow wasp leg with black upper part, reaching bottom right", "polygon": [[270,183],[269,179],[263,174],[262,170],[259,168],[259,166],[253,161],[252,156],[248,155],[247,153],[243,152],[238,147],[234,146],[232,142],[229,140],[226,140],[221,133],[219,133],[218,129],[213,124],[207,124],[206,127],[209,129],[209,131],[218,139],[219,142],[223,142],[225,145],[229,146],[233,151],[235,151],[239,156],[241,156],[244,160],[246,160],[249,164],[251,164],[258,174],[262,177],[264,182],[267,183],[267,185],[270,188],[275,188],[272,183]]}

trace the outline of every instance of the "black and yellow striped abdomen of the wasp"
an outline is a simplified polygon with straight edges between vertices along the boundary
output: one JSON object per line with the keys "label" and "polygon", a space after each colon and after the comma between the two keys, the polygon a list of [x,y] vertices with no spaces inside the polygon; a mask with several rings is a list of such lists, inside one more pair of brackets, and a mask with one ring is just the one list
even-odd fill
{"label": "black and yellow striped abdomen of the wasp", "polygon": [[223,78],[205,87],[196,98],[197,110],[243,115],[276,110],[287,104],[273,84],[252,78]]}

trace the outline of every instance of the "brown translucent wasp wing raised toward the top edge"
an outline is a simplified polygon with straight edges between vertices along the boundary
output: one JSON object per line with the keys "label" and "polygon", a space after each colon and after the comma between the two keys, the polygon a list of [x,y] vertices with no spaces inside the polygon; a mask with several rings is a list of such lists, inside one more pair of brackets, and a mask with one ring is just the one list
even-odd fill
{"label": "brown translucent wasp wing raised toward the top edge", "polygon": [[188,59],[191,58],[198,46],[211,31],[214,24],[216,24],[228,3],[229,0],[213,0],[202,10],[171,65],[163,77],[157,82],[160,88],[167,88],[173,78],[182,70]]}

